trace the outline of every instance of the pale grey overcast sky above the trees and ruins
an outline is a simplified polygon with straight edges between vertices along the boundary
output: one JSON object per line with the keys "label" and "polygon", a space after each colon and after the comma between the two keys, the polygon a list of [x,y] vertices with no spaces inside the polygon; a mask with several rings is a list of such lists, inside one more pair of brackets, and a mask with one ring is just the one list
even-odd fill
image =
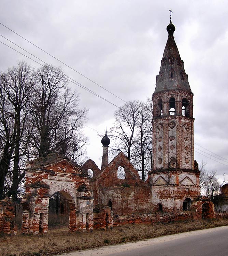
{"label": "pale grey overcast sky above the trees and ruins", "polygon": [[[207,162],[208,170],[217,170],[220,181],[225,173],[228,182],[227,1],[1,0],[1,24],[120,99],[1,24],[0,41],[23,52],[4,36],[43,61],[61,66],[68,76],[121,106],[124,101],[152,97],[168,37],[170,9],[175,41],[194,93],[195,159]],[[2,43],[0,56],[2,71],[23,59],[39,67]],[[100,167],[102,145],[95,130],[104,132],[105,125],[112,125],[117,107],[70,86],[80,93],[81,106],[89,108],[87,152]]]}

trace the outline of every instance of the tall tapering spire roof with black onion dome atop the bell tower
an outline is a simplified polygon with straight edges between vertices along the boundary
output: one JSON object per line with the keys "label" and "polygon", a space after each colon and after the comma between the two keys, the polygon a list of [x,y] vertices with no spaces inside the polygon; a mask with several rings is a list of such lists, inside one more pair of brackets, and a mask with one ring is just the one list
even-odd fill
{"label": "tall tapering spire roof with black onion dome atop the bell tower", "polygon": [[173,89],[181,89],[191,93],[188,75],[186,75],[184,70],[184,62],[181,60],[181,56],[174,41],[173,32],[175,31],[175,27],[171,22],[171,18],[170,24],[167,26],[167,31],[169,36],[161,60],[159,75],[157,75],[156,78],[154,93]]}

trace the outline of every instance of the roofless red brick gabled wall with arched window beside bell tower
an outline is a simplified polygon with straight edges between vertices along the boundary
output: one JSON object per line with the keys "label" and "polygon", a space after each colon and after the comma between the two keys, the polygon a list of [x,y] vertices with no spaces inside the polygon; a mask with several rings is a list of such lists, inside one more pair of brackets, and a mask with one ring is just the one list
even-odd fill
{"label": "roofless red brick gabled wall with arched window beside bell tower", "polygon": [[[125,179],[118,179],[118,167]],[[119,153],[93,182],[95,205],[108,205],[115,215],[150,212],[150,187],[123,153]]]}

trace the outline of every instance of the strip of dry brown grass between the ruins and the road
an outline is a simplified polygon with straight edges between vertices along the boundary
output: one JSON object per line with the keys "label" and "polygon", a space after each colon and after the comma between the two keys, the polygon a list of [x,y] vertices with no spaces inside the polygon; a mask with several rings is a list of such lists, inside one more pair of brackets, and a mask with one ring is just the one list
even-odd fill
{"label": "strip of dry brown grass between the ruins and the road", "polygon": [[85,233],[69,233],[68,228],[58,227],[46,235],[5,235],[0,234],[1,256],[43,256],[94,248],[106,244],[136,241],[166,234],[228,225],[228,220],[188,221],[156,223],[152,225],[126,225],[113,230],[94,230]]}

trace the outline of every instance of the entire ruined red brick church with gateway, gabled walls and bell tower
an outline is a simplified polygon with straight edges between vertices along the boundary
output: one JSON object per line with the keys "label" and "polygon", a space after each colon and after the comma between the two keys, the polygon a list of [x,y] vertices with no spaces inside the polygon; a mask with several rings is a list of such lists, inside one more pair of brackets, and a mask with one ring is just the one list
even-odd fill
{"label": "entire ruined red brick church with gateway, gabled walls and bell tower", "polygon": [[[194,160],[193,93],[174,41],[171,18],[167,31],[168,41],[152,97],[153,169],[147,181],[140,179],[123,153],[109,163],[107,133],[101,141],[101,169],[91,159],[80,167],[57,155],[30,161],[22,199],[23,233],[47,232],[49,198],[56,192],[69,202],[70,231],[214,217],[213,203],[200,196],[200,171]],[[117,175],[118,168],[124,170],[122,179]],[[5,211],[1,205],[0,219]],[[13,225],[8,226],[10,232]]]}

